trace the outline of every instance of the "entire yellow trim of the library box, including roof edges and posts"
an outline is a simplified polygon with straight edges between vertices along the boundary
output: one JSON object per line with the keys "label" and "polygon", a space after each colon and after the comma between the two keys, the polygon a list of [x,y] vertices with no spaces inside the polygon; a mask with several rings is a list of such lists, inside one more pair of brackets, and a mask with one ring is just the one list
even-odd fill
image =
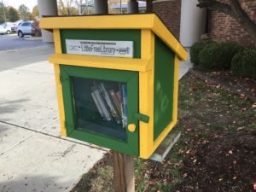
{"label": "entire yellow trim of the library box, including roof edges and posts", "polygon": [[[83,21],[81,21],[83,20]],[[125,21],[124,21],[125,20]],[[53,29],[55,38],[55,55],[49,61],[55,66],[55,83],[60,111],[61,136],[67,137],[65,127],[64,103],[60,81],[60,64],[82,67],[112,68],[117,70],[137,71],[139,73],[139,113],[150,117],[148,123],[139,122],[140,157],[148,159],[166,135],[177,123],[177,90],[179,61],[186,60],[187,51],[183,49],[172,33],[168,31],[156,15],[103,15],[76,17],[49,17],[40,20],[44,29]],[[111,58],[90,55],[67,55],[61,51],[61,28],[86,29],[141,29],[141,59]],[[172,49],[174,61],[174,91],[172,123],[161,132],[154,141],[154,37],[160,37]]]}

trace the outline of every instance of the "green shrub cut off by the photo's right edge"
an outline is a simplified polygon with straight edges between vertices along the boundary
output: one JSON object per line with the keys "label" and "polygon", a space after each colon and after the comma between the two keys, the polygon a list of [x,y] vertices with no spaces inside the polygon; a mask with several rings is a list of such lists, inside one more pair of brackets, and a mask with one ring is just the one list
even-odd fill
{"label": "green shrub cut off by the photo's right edge", "polygon": [[231,62],[231,71],[238,77],[256,79],[256,49],[236,53]]}

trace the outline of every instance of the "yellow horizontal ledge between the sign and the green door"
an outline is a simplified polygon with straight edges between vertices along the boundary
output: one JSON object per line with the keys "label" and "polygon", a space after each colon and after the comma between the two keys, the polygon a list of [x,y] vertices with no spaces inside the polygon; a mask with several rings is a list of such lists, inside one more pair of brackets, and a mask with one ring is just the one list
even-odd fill
{"label": "yellow horizontal ledge between the sign and the green door", "polygon": [[93,55],[55,54],[49,57],[49,62],[62,65],[109,68],[129,71],[146,72],[150,70],[152,59],[117,58]]}

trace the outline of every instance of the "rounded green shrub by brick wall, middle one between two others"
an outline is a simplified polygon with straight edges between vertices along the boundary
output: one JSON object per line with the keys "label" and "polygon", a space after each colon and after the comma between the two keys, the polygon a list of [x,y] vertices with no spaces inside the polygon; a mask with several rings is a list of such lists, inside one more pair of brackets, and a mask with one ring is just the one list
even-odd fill
{"label": "rounded green shrub by brick wall, middle one between two others", "polygon": [[199,54],[200,66],[206,69],[229,69],[233,56],[241,49],[235,42],[208,44]]}

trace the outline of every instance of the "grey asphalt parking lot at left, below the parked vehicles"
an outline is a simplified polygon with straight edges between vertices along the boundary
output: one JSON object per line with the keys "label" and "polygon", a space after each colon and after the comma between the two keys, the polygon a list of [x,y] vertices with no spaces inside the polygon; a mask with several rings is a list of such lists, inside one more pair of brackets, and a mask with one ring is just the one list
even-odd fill
{"label": "grey asphalt parking lot at left, below the parked vehicles", "polygon": [[19,38],[16,33],[0,35],[0,51],[10,49],[23,49],[44,45],[42,38],[25,36]]}

